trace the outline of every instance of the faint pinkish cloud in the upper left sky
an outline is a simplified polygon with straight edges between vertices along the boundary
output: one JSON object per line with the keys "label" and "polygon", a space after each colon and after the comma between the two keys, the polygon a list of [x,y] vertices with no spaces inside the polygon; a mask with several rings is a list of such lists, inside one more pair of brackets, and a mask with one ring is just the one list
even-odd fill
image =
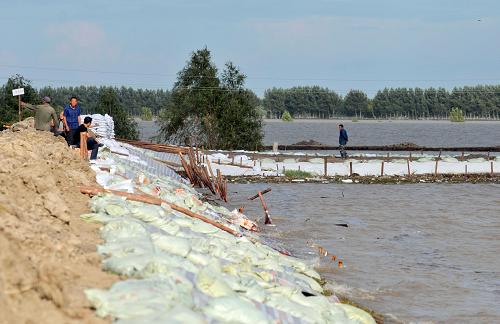
{"label": "faint pinkish cloud in the upper left sky", "polygon": [[118,46],[96,23],[88,21],[51,24],[46,29],[51,43],[47,55],[71,63],[105,63],[119,54]]}

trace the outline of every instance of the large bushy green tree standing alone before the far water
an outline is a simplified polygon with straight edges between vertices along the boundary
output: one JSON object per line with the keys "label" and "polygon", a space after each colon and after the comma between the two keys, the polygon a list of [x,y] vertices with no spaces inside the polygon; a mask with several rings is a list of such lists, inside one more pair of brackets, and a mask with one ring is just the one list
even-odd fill
{"label": "large bushy green tree standing alone before the far water", "polygon": [[262,142],[259,100],[228,62],[222,74],[207,48],[191,54],[159,116],[160,138],[218,149],[255,149]]}

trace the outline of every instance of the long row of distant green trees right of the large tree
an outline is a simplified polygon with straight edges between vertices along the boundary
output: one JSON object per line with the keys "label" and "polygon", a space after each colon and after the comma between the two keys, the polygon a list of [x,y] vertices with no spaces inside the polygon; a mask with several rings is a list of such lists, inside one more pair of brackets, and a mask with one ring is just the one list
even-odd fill
{"label": "long row of distant green trees right of the large tree", "polygon": [[466,117],[500,118],[500,85],[444,88],[385,88],[368,98],[361,90],[341,96],[328,88],[272,88],[262,106],[268,118],[288,111],[294,118],[447,118],[453,108]]}

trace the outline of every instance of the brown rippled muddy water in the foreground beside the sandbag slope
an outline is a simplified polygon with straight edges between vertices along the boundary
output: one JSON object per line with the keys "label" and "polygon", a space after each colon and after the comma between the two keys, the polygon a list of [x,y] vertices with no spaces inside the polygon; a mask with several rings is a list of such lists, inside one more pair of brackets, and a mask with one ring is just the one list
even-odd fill
{"label": "brown rippled muddy water in the foreground beside the sandbag slope", "polygon": [[[233,206],[267,184],[230,186]],[[500,186],[272,185],[266,235],[314,260],[310,242],[342,258],[319,270],[338,292],[405,322],[500,322]],[[346,223],[348,228],[335,224]]]}

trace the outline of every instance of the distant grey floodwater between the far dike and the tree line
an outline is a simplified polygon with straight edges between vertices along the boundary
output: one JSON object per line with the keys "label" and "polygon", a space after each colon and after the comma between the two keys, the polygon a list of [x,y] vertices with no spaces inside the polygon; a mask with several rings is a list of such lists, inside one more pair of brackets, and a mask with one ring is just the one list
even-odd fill
{"label": "distant grey floodwater between the far dike and the tree line", "polygon": [[[315,140],[323,144],[338,144],[338,124],[349,133],[349,145],[390,145],[414,143],[420,146],[497,146],[500,145],[499,121],[340,121],[340,120],[281,120],[264,121],[264,144],[294,144]],[[149,140],[158,132],[154,122],[138,121],[141,139]]]}

